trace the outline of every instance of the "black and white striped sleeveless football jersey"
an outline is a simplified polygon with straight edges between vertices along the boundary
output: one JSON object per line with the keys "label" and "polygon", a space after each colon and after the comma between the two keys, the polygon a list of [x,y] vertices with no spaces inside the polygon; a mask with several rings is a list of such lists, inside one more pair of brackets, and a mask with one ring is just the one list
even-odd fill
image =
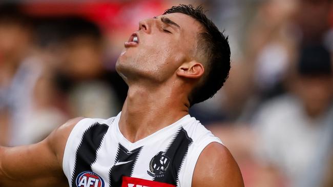
{"label": "black and white striped sleeveless football jersey", "polygon": [[190,115],[132,143],[119,130],[120,114],[73,128],[63,160],[71,187],[190,187],[202,150],[221,143]]}

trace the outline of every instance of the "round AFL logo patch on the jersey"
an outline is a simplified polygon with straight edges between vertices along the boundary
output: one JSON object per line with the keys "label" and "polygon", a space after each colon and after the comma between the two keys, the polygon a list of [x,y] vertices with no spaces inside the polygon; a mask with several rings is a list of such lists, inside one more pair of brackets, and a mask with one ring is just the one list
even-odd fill
{"label": "round AFL logo patch on the jersey", "polygon": [[86,171],[76,177],[77,187],[104,187],[103,179],[96,173]]}

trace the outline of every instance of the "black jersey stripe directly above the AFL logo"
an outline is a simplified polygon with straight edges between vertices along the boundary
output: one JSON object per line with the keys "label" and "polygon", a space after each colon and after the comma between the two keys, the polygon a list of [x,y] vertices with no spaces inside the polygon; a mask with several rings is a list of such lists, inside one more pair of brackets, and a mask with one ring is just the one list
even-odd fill
{"label": "black jersey stripe directly above the AFL logo", "polygon": [[76,186],[75,179],[78,174],[91,171],[91,164],[96,160],[97,150],[101,146],[101,141],[108,131],[106,124],[94,123],[82,136],[81,143],[75,154],[74,172],[72,174],[72,186]]}

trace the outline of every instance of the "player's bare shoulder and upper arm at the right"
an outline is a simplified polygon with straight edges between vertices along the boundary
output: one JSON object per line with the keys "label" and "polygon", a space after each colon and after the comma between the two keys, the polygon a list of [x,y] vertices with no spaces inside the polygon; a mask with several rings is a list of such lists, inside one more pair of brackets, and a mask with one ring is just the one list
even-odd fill
{"label": "player's bare shoulder and upper arm at the right", "polygon": [[231,153],[221,144],[213,142],[199,156],[192,186],[244,187],[244,183]]}

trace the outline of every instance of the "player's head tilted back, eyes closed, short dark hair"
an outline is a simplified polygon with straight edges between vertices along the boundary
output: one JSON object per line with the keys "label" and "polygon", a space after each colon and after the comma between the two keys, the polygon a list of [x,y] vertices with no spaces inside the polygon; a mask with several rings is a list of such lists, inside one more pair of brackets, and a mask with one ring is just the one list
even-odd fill
{"label": "player's head tilted back, eyes closed, short dark hair", "polygon": [[116,69],[130,87],[182,82],[179,87],[189,88],[188,100],[193,106],[223,86],[230,55],[227,37],[204,15],[202,7],[179,5],[139,22]]}

